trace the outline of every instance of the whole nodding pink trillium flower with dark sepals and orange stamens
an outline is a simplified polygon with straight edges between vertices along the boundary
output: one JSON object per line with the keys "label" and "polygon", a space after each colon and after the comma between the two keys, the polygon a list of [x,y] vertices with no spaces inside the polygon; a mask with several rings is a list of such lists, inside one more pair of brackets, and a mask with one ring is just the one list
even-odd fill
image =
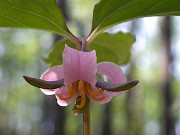
{"label": "whole nodding pink trillium flower with dark sepals and orange stamens", "polygon": [[[97,78],[97,74],[105,75],[110,83]],[[60,106],[67,106],[80,97],[77,108],[83,108],[87,98],[95,103],[107,103],[138,83],[127,82],[121,68],[112,62],[97,64],[95,51],[78,51],[68,46],[63,52],[62,65],[46,70],[40,79],[24,78],[44,94],[55,95]]]}

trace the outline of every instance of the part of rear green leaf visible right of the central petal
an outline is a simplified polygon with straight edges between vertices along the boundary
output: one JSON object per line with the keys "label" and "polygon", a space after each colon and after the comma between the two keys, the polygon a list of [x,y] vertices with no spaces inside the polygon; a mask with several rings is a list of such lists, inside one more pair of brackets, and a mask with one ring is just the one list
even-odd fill
{"label": "part of rear green leaf visible right of the central petal", "polygon": [[96,50],[97,61],[111,61],[122,65],[129,61],[130,50],[135,42],[130,33],[102,33],[89,45],[89,49]]}

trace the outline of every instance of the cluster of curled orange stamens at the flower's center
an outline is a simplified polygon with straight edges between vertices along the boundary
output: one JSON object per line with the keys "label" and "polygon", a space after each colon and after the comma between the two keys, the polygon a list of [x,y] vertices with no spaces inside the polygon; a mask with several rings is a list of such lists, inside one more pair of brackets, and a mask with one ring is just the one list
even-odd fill
{"label": "cluster of curled orange stamens at the flower's center", "polygon": [[85,81],[76,81],[73,82],[71,86],[68,87],[67,96],[64,97],[60,93],[57,93],[57,97],[61,100],[69,100],[71,99],[76,92],[79,92],[79,96],[81,97],[81,102],[79,105],[76,105],[77,108],[83,108],[86,105],[86,98],[89,97],[95,101],[102,101],[106,97],[102,95],[104,92],[101,88],[92,88],[92,86]]}

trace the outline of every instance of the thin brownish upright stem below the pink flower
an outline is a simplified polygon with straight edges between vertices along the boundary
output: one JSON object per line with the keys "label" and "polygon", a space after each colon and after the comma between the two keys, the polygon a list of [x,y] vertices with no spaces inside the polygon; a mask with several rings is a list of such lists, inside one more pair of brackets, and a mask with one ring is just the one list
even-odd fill
{"label": "thin brownish upright stem below the pink flower", "polygon": [[90,132],[90,106],[87,105],[87,110],[83,113],[83,135],[91,135]]}

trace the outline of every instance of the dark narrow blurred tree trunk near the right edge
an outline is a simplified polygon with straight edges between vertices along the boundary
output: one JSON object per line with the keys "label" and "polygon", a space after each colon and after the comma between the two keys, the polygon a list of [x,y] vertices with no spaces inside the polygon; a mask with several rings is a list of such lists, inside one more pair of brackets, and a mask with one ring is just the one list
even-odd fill
{"label": "dark narrow blurred tree trunk near the right edge", "polygon": [[170,67],[172,63],[171,57],[171,37],[172,37],[172,29],[171,29],[171,18],[165,17],[163,19],[163,27],[162,27],[162,40],[163,40],[163,50],[164,50],[164,77],[162,82],[162,91],[163,91],[163,101],[164,101],[164,109],[163,109],[163,135],[175,135],[174,129],[174,120],[171,115],[171,106],[172,106],[172,89],[171,89],[171,74]]}

